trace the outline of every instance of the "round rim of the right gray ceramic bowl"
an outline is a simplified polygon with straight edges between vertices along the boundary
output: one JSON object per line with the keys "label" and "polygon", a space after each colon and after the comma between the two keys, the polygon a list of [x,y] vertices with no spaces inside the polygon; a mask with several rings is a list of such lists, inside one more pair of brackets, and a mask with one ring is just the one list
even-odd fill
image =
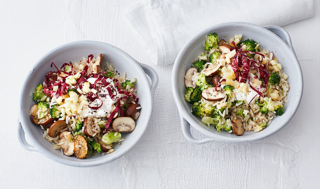
{"label": "round rim of the right gray ceramic bowl", "polygon": [[[264,132],[260,135],[252,135],[252,136],[246,136],[246,137],[228,137],[228,136],[223,136],[223,135],[219,135],[217,133],[215,133],[214,131],[208,131],[206,130],[202,125],[199,125],[196,122],[196,116],[190,116],[187,112],[189,112],[190,110],[184,110],[182,108],[182,99],[179,96],[179,92],[178,92],[178,85],[177,85],[177,77],[178,77],[178,68],[179,65],[181,64],[181,60],[182,57],[184,56],[184,54],[186,53],[186,51],[188,50],[188,48],[195,43],[200,37],[202,37],[204,34],[208,34],[210,32],[212,32],[213,30],[217,29],[217,28],[221,28],[221,27],[226,27],[226,26],[244,26],[244,27],[249,27],[252,30],[262,30],[263,32],[267,32],[268,34],[272,35],[275,39],[277,39],[279,42],[281,42],[281,45],[284,46],[284,48],[288,49],[288,51],[293,55],[293,59],[295,59],[294,64],[296,64],[297,66],[297,73],[300,77],[298,77],[298,81],[297,84],[298,88],[300,88],[299,94],[296,94],[298,96],[299,102],[296,103],[295,107],[293,108],[292,113],[288,116],[288,118],[282,122],[282,124],[279,124],[277,127],[274,127],[273,129]],[[286,32],[283,28],[279,27],[279,26],[275,26],[278,27],[279,30],[281,30],[281,32]],[[289,34],[284,34],[287,37],[290,36]],[[264,138],[267,138],[268,136],[273,135],[274,133],[278,132],[279,130],[281,130],[285,125],[287,125],[290,120],[292,119],[292,117],[294,116],[294,114],[296,113],[296,111],[299,108],[300,102],[301,102],[301,98],[302,98],[302,93],[303,93],[303,77],[302,77],[302,70],[300,67],[300,63],[299,60],[294,52],[294,49],[292,47],[292,43],[291,40],[289,41],[290,44],[288,44],[288,42],[285,42],[284,39],[282,39],[281,37],[279,37],[278,35],[276,35],[275,33],[271,32],[270,30],[268,30],[266,27],[263,26],[258,26],[255,24],[251,24],[251,23],[247,23],[247,22],[226,22],[226,23],[221,23],[221,24],[217,24],[211,27],[208,27],[206,29],[204,29],[203,31],[199,32],[198,34],[194,35],[192,38],[190,38],[188,40],[188,42],[185,43],[185,45],[182,47],[182,49],[179,51],[178,56],[176,57],[176,60],[174,62],[173,65],[173,69],[172,69],[172,93],[174,96],[174,100],[176,102],[176,105],[178,107],[179,110],[179,114],[180,114],[180,118],[181,121],[183,121],[183,119],[186,119],[186,121],[192,125],[194,128],[196,128],[198,131],[200,131],[201,133],[203,133],[206,136],[209,136],[209,138],[212,141],[216,141],[216,142],[226,142],[226,143],[246,143],[246,142],[254,142],[257,140],[262,140]],[[185,101],[183,99],[183,101]],[[293,104],[294,105],[294,104]],[[184,127],[184,124],[181,123],[181,126]],[[186,137],[186,136],[185,136]],[[187,139],[189,137],[186,137]],[[189,140],[189,139],[188,139]],[[195,143],[194,141],[190,140],[190,142]]]}

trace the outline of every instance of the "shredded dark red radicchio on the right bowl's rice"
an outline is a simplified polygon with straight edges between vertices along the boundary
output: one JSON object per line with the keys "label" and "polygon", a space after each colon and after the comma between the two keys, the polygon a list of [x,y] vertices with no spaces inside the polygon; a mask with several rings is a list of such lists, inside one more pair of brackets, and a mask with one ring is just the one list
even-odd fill
{"label": "shredded dark red radicchio on the right bowl's rice", "polygon": [[[232,57],[231,67],[232,67],[233,72],[235,73],[236,80],[241,83],[245,83],[247,81],[247,79],[248,78],[250,79],[250,77],[251,77],[249,75],[250,69],[255,69],[255,70],[257,70],[257,76],[254,77],[254,79],[261,78],[262,79],[261,87],[265,87],[265,90],[267,90],[267,82],[269,79],[268,63],[261,64],[262,58],[264,58],[265,56],[259,52],[244,51],[244,50],[242,50],[242,45],[239,48],[236,46],[234,41],[232,42],[232,44],[236,49],[236,54]],[[260,58],[258,61],[255,61],[255,60],[250,59],[248,54],[258,54],[262,58]],[[273,53],[270,56],[272,57]],[[243,68],[243,71],[241,71],[240,68]],[[263,96],[263,94],[260,91],[258,91],[257,89],[255,89],[251,85],[250,85],[250,87],[254,91],[256,91],[260,96]]]}

